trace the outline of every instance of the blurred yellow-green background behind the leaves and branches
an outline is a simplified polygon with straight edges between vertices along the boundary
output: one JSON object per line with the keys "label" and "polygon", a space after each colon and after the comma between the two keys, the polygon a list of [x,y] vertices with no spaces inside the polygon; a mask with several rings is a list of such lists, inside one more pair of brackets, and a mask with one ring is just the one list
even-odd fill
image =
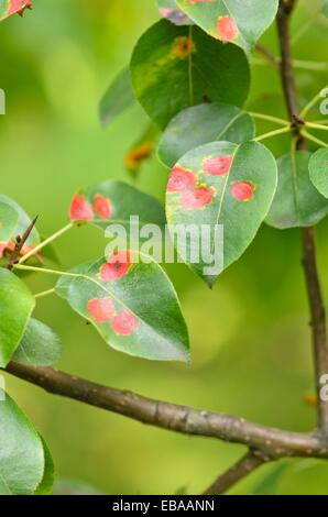
{"label": "blurred yellow-green background behind the leaves and branches", "polygon": [[[319,6],[300,3],[296,33]],[[131,182],[123,156],[146,116],[135,106],[102,129],[98,101],[158,14],[154,0],[34,0],[33,6],[23,19],[11,16],[0,26],[0,87],[7,92],[0,177],[1,191],[31,216],[39,213],[40,230],[50,234],[66,223],[69,199],[79,187],[107,178]],[[321,70],[297,68],[303,103],[328,84],[327,26],[320,16],[294,44],[295,57],[322,63]],[[274,26],[263,43],[277,52]],[[248,107],[285,117],[277,73],[258,61]],[[317,110],[313,118],[320,118]],[[270,129],[259,124],[260,132]],[[267,144],[277,156],[289,145],[284,136]],[[166,178],[167,170],[153,160],[138,186],[163,199]],[[326,299],[327,229],[324,222],[318,230]],[[68,267],[99,256],[103,245],[100,231],[81,228],[62,238],[57,250]],[[63,370],[151,397],[307,431],[315,425],[315,409],[304,403],[314,386],[299,254],[297,230],[264,226],[214,292],[183,265],[168,268],[190,330],[190,366],[114,352],[55,297],[40,300],[36,316],[63,340]],[[39,275],[29,284],[39,292],[53,278]],[[199,493],[243,453],[239,446],[161,431],[56,398],[13,377],[7,377],[7,387],[47,440],[58,479],[79,480],[101,493],[174,494],[182,487]],[[263,484],[273,469],[262,468],[233,492],[328,494],[328,462],[284,462],[281,475]]]}

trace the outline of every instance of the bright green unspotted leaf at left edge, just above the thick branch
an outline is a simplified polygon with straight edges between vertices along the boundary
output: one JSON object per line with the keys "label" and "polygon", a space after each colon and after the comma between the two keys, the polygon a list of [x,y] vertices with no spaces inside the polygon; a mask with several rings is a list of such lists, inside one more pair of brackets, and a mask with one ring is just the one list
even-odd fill
{"label": "bright green unspotted leaf at left edge, just above the thick branch", "polygon": [[26,285],[8,270],[0,268],[0,366],[4,367],[18,348],[35,299]]}

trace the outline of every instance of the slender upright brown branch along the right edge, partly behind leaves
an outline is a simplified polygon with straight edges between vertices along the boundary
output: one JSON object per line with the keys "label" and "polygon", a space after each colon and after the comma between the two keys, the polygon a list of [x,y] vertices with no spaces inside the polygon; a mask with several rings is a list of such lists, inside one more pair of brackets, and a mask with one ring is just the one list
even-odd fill
{"label": "slender upright brown branch along the right edge, partly behind leaves", "polygon": [[[298,118],[298,96],[296,91],[294,70],[292,66],[291,43],[289,43],[289,22],[295,0],[281,0],[277,15],[277,30],[280,36],[280,46],[282,53],[281,76],[285,92],[285,100],[289,113],[291,122],[294,123],[294,133],[296,136],[297,150],[305,148],[306,143],[300,134],[303,121]],[[307,296],[311,316],[311,334],[315,361],[315,374],[318,395],[318,425],[328,432],[328,403],[320,398],[320,377],[328,373],[328,350],[327,350],[327,324],[325,307],[322,301],[321,288],[319,283],[315,229],[302,229],[303,243],[303,265],[307,287]]]}

